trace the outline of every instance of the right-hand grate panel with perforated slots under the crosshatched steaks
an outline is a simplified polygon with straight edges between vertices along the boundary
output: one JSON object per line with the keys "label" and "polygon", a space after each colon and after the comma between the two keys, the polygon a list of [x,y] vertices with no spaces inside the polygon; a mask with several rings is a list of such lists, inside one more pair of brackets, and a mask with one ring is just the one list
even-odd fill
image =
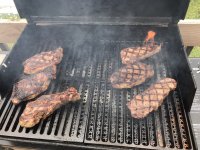
{"label": "right-hand grate panel with perforated slots under the crosshatched steaks", "polygon": [[[108,42],[107,44],[106,49],[113,45],[118,54],[120,52],[118,50],[135,45],[134,42],[126,41]],[[166,51],[164,47],[162,51]],[[126,108],[126,103],[133,95],[142,92],[153,81],[170,76],[163,55],[165,55],[164,52],[154,58],[154,62],[147,61],[154,65],[156,77],[143,86],[131,90],[115,90],[108,82],[95,83],[94,96],[89,110],[86,143],[128,147],[134,145],[134,147],[143,148],[192,149],[189,144],[190,139],[187,137],[189,133],[186,131],[187,123],[178,91],[169,96],[157,112],[142,120],[132,119]],[[116,57],[111,56],[108,60],[111,61],[109,64],[111,71],[109,71],[110,74],[108,73],[110,76],[118,66],[114,65],[117,64]],[[101,67],[103,68],[102,65]],[[97,70],[101,70],[101,67],[98,66]]]}

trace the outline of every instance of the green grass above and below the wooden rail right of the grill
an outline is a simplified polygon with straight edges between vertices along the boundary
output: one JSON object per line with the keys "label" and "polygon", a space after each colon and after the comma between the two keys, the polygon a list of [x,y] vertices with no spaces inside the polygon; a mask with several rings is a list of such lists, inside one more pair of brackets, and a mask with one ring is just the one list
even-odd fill
{"label": "green grass above and below the wooden rail right of the grill", "polygon": [[[190,1],[186,19],[200,19],[200,0]],[[194,47],[189,57],[200,57],[200,47]]]}

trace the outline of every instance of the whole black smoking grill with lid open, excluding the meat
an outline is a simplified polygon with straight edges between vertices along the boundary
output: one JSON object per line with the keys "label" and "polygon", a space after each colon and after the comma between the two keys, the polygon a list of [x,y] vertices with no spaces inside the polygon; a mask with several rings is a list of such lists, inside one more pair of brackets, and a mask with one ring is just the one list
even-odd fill
{"label": "whole black smoking grill with lid open, excluding the meat", "polygon": [[[15,0],[28,25],[0,69],[0,144],[46,149],[197,149],[190,122],[196,87],[177,21],[188,0]],[[144,62],[155,76],[131,89],[113,89],[110,75],[119,69],[120,50],[142,44],[149,30],[161,52]],[[12,86],[22,62],[61,46],[64,57],[48,93],[74,86],[81,101],[69,103],[33,128],[18,124],[26,102],[14,106]],[[126,103],[162,77],[178,87],[144,119],[131,117]]]}

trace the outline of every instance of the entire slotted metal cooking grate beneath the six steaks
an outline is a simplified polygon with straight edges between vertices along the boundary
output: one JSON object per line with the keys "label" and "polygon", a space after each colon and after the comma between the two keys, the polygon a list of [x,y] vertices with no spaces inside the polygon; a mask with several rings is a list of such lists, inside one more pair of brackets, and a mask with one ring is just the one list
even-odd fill
{"label": "entire slotted metal cooking grate beneath the six steaks", "polygon": [[[65,46],[65,42],[71,44]],[[126,107],[133,95],[144,91],[152,82],[172,76],[164,57],[167,43],[163,45],[160,54],[146,61],[154,66],[156,76],[146,84],[128,90],[113,89],[108,78],[121,66],[120,49],[137,45],[138,42],[97,43],[95,48],[77,48],[70,41],[38,43],[38,47],[30,52],[37,53],[60,45],[65,50],[57,80],[52,82],[46,93],[75,86],[81,93],[81,101],[67,104],[35,127],[25,129],[18,124],[25,105],[14,106],[8,95],[0,103],[0,134],[125,147],[191,149],[186,116],[178,91],[168,96],[158,111],[141,120],[132,118]]]}

